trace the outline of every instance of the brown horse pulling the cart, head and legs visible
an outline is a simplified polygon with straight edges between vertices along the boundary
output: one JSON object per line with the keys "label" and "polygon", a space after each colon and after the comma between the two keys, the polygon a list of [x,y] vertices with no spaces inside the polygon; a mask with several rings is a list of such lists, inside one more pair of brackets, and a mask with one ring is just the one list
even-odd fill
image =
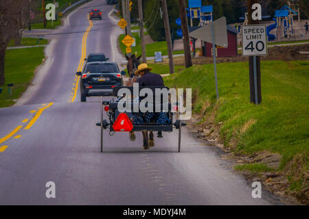
{"label": "brown horse pulling the cart, head and legs visible", "polygon": [[[126,68],[128,70],[128,74],[129,74],[129,79],[126,82],[126,86],[133,86],[133,83],[136,82],[137,77],[135,77],[134,75],[134,71],[137,66],[139,66],[140,62],[139,60],[141,59],[141,55],[139,55],[139,57],[136,57],[134,54],[133,55],[126,55],[126,60],[128,60],[128,64],[126,65]],[[150,131],[149,133],[149,138],[148,138],[148,131],[142,131],[143,133],[143,142],[144,145],[149,145],[149,146],[154,146],[155,145],[155,140],[154,140],[154,134],[152,131]],[[135,132],[134,131],[130,131],[129,132],[129,136],[130,136],[130,140],[135,141]]]}

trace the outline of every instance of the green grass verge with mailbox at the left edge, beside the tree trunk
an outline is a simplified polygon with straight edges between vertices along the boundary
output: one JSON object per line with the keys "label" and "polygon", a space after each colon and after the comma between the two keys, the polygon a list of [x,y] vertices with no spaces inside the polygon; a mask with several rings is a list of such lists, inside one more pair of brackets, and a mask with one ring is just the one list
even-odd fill
{"label": "green grass verge with mailbox at the left edge, beside the tree trunk", "polygon": [[[44,58],[43,47],[7,50],[5,55],[5,86],[0,94],[0,107],[9,107],[29,86],[34,69]],[[8,94],[6,84],[14,83],[12,96]]]}

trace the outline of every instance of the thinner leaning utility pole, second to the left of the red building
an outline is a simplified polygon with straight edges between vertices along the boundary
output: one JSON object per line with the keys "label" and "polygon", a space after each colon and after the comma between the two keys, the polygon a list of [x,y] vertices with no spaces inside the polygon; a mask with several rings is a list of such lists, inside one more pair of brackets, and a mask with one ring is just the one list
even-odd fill
{"label": "thinner leaning utility pole, second to the left of the red building", "polygon": [[170,22],[168,21],[168,5],[166,0],[161,0],[162,11],[163,11],[163,21],[165,28],[165,38],[168,44],[168,60],[170,64],[170,74],[174,73],[174,60],[173,60],[173,49],[172,49],[172,38],[170,37]]}

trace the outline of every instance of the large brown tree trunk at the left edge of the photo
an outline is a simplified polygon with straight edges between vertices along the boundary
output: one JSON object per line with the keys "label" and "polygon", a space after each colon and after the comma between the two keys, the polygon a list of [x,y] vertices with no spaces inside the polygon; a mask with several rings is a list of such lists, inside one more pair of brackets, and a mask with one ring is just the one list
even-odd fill
{"label": "large brown tree trunk at the left edge of the photo", "polygon": [[0,1],[0,86],[5,83],[5,50],[10,40],[19,36],[27,23],[29,3],[25,0]]}

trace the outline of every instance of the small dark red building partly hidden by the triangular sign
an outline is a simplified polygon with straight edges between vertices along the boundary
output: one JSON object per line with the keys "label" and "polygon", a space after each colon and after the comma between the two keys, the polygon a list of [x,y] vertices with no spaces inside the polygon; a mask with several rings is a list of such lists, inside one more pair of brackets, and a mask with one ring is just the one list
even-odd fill
{"label": "small dark red building partly hidden by the triangular sign", "polygon": [[[216,54],[217,57],[230,57],[236,56],[238,52],[237,47],[237,29],[227,25],[227,42],[229,47],[217,47]],[[212,44],[206,42],[206,53],[204,51],[206,57],[212,57]]]}

